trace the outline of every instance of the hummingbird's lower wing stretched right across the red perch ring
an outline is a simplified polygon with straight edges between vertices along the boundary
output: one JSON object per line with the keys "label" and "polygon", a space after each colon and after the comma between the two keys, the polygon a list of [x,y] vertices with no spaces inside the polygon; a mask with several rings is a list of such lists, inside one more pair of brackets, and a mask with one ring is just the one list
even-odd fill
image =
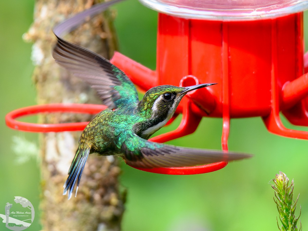
{"label": "hummingbird's lower wing stretched right across the red perch ring", "polygon": [[242,153],[160,144],[137,135],[122,146],[122,151],[125,162],[138,168],[186,167],[251,157]]}

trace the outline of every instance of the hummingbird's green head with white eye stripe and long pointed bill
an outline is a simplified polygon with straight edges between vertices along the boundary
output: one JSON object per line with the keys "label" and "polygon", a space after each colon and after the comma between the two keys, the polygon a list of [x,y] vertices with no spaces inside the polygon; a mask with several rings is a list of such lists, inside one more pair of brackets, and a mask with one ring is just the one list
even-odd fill
{"label": "hummingbird's green head with white eye stripe and long pointed bill", "polygon": [[[211,86],[216,83],[198,84],[190,87],[176,87],[172,85],[161,85],[149,89],[143,99],[139,102],[138,108],[148,119],[157,119],[168,122],[174,114],[181,99],[189,91],[202,87]],[[162,125],[164,126],[164,125]]]}

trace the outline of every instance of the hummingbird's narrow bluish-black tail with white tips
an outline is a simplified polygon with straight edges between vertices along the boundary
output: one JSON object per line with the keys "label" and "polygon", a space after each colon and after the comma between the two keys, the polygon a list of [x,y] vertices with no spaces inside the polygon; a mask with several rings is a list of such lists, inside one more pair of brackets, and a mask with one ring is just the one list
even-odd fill
{"label": "hummingbird's narrow bluish-black tail with white tips", "polygon": [[84,165],[86,164],[87,158],[90,153],[90,148],[81,149],[80,147],[77,149],[74,160],[72,161],[71,167],[68,170],[68,177],[63,185],[63,195],[67,194],[68,200],[71,199],[72,192],[75,188],[76,180],[77,187],[75,197],[78,191],[79,181],[83,172]]}

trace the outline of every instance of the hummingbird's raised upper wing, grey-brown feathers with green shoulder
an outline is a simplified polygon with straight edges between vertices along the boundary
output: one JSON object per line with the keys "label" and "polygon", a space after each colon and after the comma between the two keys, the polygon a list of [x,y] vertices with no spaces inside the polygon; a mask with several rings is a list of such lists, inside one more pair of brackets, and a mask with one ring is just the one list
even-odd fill
{"label": "hummingbird's raised upper wing, grey-brown feathers with green shoulder", "polygon": [[93,87],[104,105],[115,109],[138,102],[136,87],[123,71],[95,52],[57,38],[55,61]]}

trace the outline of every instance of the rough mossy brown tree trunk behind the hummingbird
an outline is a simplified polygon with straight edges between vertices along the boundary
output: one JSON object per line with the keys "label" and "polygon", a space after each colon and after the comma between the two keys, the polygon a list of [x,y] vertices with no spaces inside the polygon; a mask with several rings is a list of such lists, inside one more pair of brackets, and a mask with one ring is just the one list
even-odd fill
{"label": "rough mossy brown tree trunk behind the hummingbird", "polygon": [[[34,43],[36,65],[33,80],[38,103],[100,103],[96,92],[60,68],[51,56],[56,38],[52,27],[91,7],[93,0],[37,0],[34,23],[24,39]],[[110,12],[96,16],[65,39],[110,58],[116,48]],[[54,113],[42,115],[41,123],[89,121],[91,115]],[[119,191],[119,161],[89,156],[77,197],[67,200],[63,184],[75,155],[80,132],[41,135],[42,226],[43,230],[120,230],[124,196]]]}

